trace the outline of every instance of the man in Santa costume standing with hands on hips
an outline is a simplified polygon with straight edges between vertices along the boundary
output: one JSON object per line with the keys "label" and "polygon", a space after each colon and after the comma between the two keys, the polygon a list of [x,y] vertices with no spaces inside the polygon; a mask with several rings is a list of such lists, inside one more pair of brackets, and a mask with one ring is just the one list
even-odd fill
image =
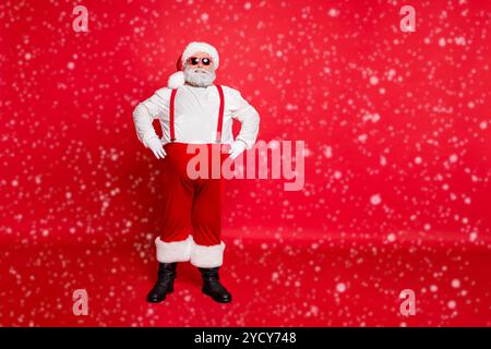
{"label": "man in Santa costume standing with hands on hips", "polygon": [[[158,278],[147,296],[148,302],[161,302],[173,291],[178,262],[190,262],[200,269],[203,293],[220,303],[231,301],[218,277],[225,250],[221,180],[190,178],[187,164],[194,154],[187,148],[190,144],[227,146],[225,157],[235,159],[253,146],[260,117],[239,91],[214,84],[218,65],[218,52],[212,45],[189,44],[179,57],[178,71],[168,80],[168,87],[156,91],[133,112],[139,140],[161,159],[164,181],[164,227],[155,240]],[[154,119],[160,122],[161,139],[153,128]],[[235,140],[233,119],[241,123]]]}

